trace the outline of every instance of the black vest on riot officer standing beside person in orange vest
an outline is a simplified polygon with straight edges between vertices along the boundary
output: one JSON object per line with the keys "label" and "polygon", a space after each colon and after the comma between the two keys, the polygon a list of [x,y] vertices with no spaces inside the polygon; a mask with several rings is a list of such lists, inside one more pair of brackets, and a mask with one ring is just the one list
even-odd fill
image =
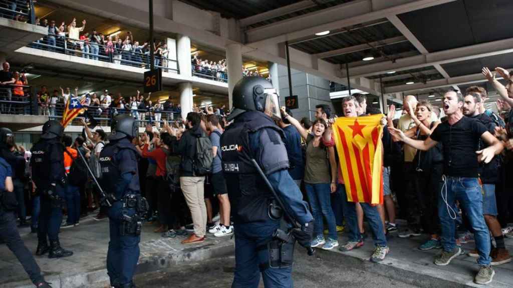
{"label": "black vest on riot officer standing beside person in orange vest", "polygon": [[37,189],[44,190],[50,186],[50,143],[40,140],[30,150],[30,166],[32,167],[32,181]]}

